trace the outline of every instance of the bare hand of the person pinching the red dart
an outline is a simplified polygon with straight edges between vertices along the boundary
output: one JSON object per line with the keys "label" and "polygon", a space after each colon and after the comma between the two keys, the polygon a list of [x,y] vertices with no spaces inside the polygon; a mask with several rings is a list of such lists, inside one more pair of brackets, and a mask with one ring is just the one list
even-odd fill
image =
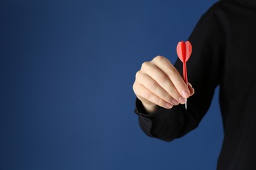
{"label": "bare hand of the person pinching the red dart", "polygon": [[148,114],[160,107],[171,109],[184,104],[185,99],[194,94],[192,85],[186,86],[181,74],[163,56],[142,63],[135,77],[133,91]]}

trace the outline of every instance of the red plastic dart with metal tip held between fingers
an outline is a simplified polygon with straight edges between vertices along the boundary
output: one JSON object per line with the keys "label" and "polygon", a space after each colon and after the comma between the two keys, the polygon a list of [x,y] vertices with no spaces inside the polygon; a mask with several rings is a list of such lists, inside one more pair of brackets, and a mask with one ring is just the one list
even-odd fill
{"label": "red plastic dart with metal tip held between fingers", "polygon": [[[177,44],[177,55],[179,59],[181,59],[183,63],[183,80],[186,83],[186,86],[188,86],[188,75],[186,73],[186,61],[190,58],[190,55],[192,53],[192,45],[189,41],[181,41]],[[185,109],[188,107],[188,99],[186,99],[185,102]]]}

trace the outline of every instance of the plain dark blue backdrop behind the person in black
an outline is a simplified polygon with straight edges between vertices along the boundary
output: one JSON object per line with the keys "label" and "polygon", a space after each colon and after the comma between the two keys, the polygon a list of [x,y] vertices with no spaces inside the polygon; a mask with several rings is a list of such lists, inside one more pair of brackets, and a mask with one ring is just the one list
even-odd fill
{"label": "plain dark blue backdrop behind the person in black", "polygon": [[216,169],[218,89],[171,143],[142,133],[132,90],[215,2],[0,1],[0,169]]}

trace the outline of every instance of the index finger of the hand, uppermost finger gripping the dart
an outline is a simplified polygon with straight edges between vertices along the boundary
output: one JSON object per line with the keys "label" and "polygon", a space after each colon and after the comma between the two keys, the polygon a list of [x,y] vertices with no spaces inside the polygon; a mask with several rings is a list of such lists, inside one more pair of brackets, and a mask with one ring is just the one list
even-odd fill
{"label": "index finger of the hand, uppermost finger gripping the dart", "polygon": [[164,58],[163,56],[157,56],[152,61],[159,69],[161,69],[161,71],[163,71],[163,73],[165,73],[165,75],[169,77],[182,97],[188,98],[190,96],[190,90],[188,89],[188,86],[184,82],[179,71],[177,71],[169,59]]}

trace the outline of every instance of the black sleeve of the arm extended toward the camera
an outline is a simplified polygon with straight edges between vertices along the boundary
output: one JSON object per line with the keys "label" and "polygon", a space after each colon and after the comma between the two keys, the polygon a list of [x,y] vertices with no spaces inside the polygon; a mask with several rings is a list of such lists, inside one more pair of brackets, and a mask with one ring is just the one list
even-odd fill
{"label": "black sleeve of the arm extended toward the camera", "polygon": [[[188,82],[195,93],[188,99],[188,109],[177,105],[172,109],[161,108],[145,114],[142,103],[137,99],[135,113],[144,133],[164,141],[172,141],[195,129],[211,105],[215,88],[220,84],[223,63],[223,35],[208,10],[194,28],[189,41],[192,56],[187,62]],[[182,62],[175,67],[182,75]]]}

